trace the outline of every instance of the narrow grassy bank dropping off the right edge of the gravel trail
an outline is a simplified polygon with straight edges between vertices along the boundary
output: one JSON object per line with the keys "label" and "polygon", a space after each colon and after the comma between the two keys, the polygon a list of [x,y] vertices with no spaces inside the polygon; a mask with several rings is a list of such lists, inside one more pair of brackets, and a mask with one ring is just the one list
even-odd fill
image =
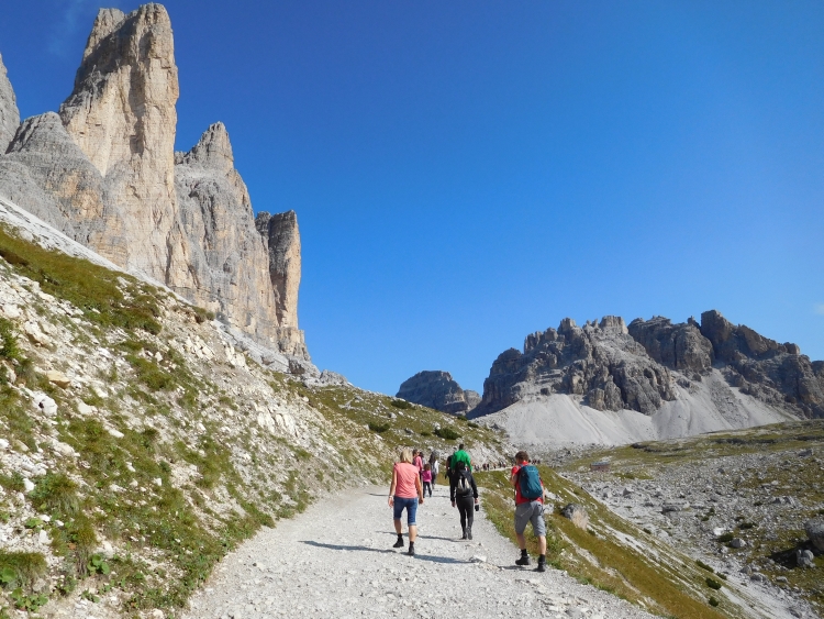
{"label": "narrow grassy bank dropping off the right edge of the gravel trail", "polygon": [[[722,614],[708,604],[714,592],[706,587],[706,572],[690,559],[615,516],[552,469],[539,468],[546,488],[560,499],[556,507],[577,502],[589,512],[587,531],[560,516],[559,509],[547,515],[547,561],[553,566],[659,615],[681,619],[736,616],[734,608],[720,608]],[[514,501],[506,473],[478,473],[477,478],[488,517],[514,542]],[[638,552],[622,541],[627,539],[638,540],[645,550]],[[537,554],[537,541],[528,533],[527,548]]]}

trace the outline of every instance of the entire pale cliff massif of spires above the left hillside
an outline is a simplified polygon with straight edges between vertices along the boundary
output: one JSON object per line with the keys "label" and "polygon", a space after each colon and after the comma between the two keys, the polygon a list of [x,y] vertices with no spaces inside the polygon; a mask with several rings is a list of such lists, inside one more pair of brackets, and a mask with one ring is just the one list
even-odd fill
{"label": "entire pale cliff massif of spires above the left hillside", "polygon": [[160,4],[100,10],[59,114],[20,124],[0,59],[0,196],[308,363],[297,217],[259,213],[256,225],[222,123],[174,152],[178,95]]}

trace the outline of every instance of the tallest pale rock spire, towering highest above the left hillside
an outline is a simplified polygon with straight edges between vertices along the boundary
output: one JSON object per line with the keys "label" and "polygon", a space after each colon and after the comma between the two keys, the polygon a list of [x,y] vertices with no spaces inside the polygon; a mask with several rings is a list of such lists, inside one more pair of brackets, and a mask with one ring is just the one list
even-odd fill
{"label": "tallest pale rock spire, towering highest above the left hillside", "polygon": [[60,107],[69,135],[103,176],[132,240],[126,267],[164,281],[175,239],[178,99],[171,23],[160,4],[94,20],[75,88]]}

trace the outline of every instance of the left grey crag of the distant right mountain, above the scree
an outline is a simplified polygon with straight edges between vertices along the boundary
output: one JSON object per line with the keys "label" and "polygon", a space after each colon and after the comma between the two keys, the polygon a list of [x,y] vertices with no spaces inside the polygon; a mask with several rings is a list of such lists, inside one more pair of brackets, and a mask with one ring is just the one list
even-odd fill
{"label": "left grey crag of the distant right mountain, above the scree", "polygon": [[604,317],[583,328],[566,318],[557,330],[527,335],[523,353],[510,349],[495,360],[476,414],[552,394],[583,396],[598,410],[652,414],[675,399],[676,389],[669,371],[627,333],[622,318]]}

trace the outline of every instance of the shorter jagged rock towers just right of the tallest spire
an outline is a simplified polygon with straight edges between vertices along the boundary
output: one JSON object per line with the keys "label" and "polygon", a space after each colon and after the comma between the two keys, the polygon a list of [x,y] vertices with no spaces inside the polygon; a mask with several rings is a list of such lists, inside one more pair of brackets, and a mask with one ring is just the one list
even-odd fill
{"label": "shorter jagged rock towers just right of the tallest spire", "polygon": [[[234,168],[223,123],[211,125],[191,151],[177,153],[175,161],[180,224],[190,248],[181,265],[188,274],[169,273],[169,285],[242,331],[269,334],[281,351],[307,357],[303,334],[297,330],[300,237],[294,212],[283,213],[294,222],[288,246],[271,247],[269,237],[255,226],[252,200]],[[293,295],[290,311],[283,311],[269,259],[270,254],[291,257],[296,251],[297,261],[281,278],[289,280]]]}

